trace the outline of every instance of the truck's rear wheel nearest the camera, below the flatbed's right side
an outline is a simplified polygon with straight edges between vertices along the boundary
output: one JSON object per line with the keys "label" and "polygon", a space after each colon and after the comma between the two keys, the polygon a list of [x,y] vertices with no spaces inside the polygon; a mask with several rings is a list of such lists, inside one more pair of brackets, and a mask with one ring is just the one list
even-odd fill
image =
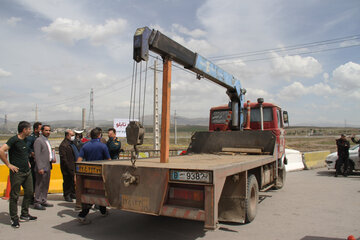
{"label": "truck's rear wheel nearest the camera, below the flatbed's right side", "polygon": [[259,185],[256,180],[256,177],[252,174],[248,177],[247,196],[245,200],[246,223],[250,223],[255,219],[258,202],[259,202]]}

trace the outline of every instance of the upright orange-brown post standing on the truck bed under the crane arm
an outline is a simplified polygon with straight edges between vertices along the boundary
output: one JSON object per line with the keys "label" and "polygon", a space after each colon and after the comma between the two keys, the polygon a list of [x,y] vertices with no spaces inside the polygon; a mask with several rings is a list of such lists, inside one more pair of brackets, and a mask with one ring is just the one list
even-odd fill
{"label": "upright orange-brown post standing on the truck bed under the crane arm", "polygon": [[171,95],[171,60],[164,59],[163,66],[163,89],[161,110],[161,146],[160,162],[169,162],[169,139],[170,139],[170,95]]}

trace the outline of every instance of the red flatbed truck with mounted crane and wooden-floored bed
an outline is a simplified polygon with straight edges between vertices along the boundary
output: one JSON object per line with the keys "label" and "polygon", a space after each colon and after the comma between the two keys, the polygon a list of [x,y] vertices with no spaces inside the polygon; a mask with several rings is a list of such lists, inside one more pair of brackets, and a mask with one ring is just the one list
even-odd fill
{"label": "red flatbed truck with mounted crane and wooden-floored bed", "polygon": [[[280,118],[276,112],[271,121],[260,123],[272,122],[273,129],[257,129],[255,122],[245,121],[256,107],[244,103],[246,91],[233,75],[160,31],[138,28],[134,60],[147,61],[149,51],[163,58],[160,157],[76,163],[77,204],[203,221],[204,228],[213,230],[219,221],[250,223],[257,213],[259,191],[284,184],[286,157],[279,153],[284,141],[277,141],[275,132],[283,131],[287,114],[274,106]],[[229,129],[195,132],[186,154],[169,157],[172,61],[195,72],[198,79],[226,88],[231,111]],[[136,150],[143,134],[141,124],[130,122],[127,142]]]}

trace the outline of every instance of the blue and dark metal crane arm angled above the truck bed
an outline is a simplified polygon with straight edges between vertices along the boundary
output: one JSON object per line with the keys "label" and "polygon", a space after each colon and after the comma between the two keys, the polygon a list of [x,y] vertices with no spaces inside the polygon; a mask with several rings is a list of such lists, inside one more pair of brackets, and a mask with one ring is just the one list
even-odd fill
{"label": "blue and dark metal crane arm angled above the truck bed", "polygon": [[238,79],[200,54],[192,52],[165,36],[160,31],[150,30],[148,27],[138,28],[134,35],[134,60],[136,62],[142,60],[147,61],[149,58],[149,50],[197,73],[198,77],[205,77],[226,88],[231,100],[233,127],[241,128],[243,122],[241,114],[244,106],[243,96],[246,90],[241,88],[241,83]]}

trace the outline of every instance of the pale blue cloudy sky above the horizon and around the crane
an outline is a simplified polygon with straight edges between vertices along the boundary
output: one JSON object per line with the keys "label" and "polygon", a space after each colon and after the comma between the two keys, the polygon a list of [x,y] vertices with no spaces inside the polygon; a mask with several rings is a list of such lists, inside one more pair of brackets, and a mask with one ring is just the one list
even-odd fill
{"label": "pale blue cloudy sky above the horizon and around the crane", "polygon": [[[290,125],[360,126],[359,23],[358,0],[0,0],[0,118],[34,121],[37,106],[43,122],[81,120],[91,89],[95,121],[129,118],[133,35],[148,26],[234,75],[246,100],[287,110]],[[135,115],[153,114],[162,60],[150,54]],[[229,101],[172,69],[172,114],[207,118]]]}

